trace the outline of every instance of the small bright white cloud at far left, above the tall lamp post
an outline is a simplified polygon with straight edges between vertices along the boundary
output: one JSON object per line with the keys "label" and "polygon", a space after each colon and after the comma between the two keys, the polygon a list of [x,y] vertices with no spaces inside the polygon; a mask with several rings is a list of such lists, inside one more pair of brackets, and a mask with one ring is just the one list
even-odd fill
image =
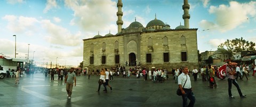
{"label": "small bright white cloud at far left, above the tall lamp post", "polygon": [[36,24],[39,22],[36,18],[16,17],[14,15],[5,15],[2,19],[7,20],[7,29],[15,33],[23,33],[29,31],[33,33],[37,31]]}

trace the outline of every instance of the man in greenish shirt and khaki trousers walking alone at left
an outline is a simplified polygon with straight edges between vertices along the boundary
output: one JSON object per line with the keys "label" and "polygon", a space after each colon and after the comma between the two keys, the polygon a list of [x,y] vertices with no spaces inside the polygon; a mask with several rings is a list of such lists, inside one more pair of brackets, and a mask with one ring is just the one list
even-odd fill
{"label": "man in greenish shirt and khaki trousers walking alone at left", "polygon": [[71,98],[74,81],[76,86],[76,74],[73,71],[74,71],[74,68],[70,68],[70,71],[68,72],[68,75],[65,78],[66,90],[68,93],[67,96],[69,99]]}

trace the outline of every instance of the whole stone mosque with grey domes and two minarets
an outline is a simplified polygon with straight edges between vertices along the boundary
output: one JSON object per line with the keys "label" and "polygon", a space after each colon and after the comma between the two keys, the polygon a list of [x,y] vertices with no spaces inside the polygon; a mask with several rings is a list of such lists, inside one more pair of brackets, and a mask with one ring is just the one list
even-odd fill
{"label": "whole stone mosque with grey domes and two minarets", "polygon": [[146,27],[136,21],[122,28],[122,0],[117,2],[117,34],[96,35],[83,39],[83,67],[101,69],[125,66],[126,69],[140,64],[146,68],[198,67],[197,29],[189,28],[189,4],[184,0],[182,9],[184,26],[175,29],[157,19],[148,22]]}

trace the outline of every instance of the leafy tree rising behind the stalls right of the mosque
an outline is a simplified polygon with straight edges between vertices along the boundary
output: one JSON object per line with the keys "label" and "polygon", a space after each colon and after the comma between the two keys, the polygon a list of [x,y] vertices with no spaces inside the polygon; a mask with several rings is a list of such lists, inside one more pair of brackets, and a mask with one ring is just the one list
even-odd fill
{"label": "leafy tree rising behind the stalls right of the mosque", "polygon": [[227,51],[231,53],[237,53],[242,51],[255,51],[255,43],[246,41],[241,38],[235,38],[233,40],[227,39],[225,43],[221,43],[218,48],[227,48]]}

